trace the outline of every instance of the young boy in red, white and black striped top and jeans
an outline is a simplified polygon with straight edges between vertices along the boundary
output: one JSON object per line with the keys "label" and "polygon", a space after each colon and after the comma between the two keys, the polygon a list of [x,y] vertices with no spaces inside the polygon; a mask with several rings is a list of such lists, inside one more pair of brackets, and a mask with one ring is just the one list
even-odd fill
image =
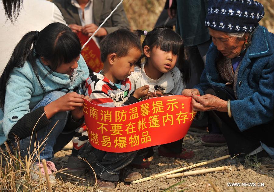
{"label": "young boy in red, white and black striped top and jeans", "polygon": [[[129,30],[119,29],[107,35],[100,46],[104,68],[99,73],[93,73],[83,85],[83,91],[92,99],[91,102],[104,107],[120,107],[138,102],[146,96],[148,85],[133,91],[128,79],[141,56],[142,47],[137,37]],[[79,149],[78,157],[85,158],[100,178],[97,188],[102,191],[115,191],[114,182],[119,179],[131,182],[142,178],[139,172],[125,169],[138,151],[111,153],[93,148],[88,142],[85,126],[79,128],[73,145]],[[79,162],[76,155],[76,150],[73,150],[69,157],[68,168],[71,171],[83,169],[80,163],[75,167],[75,162]]]}

